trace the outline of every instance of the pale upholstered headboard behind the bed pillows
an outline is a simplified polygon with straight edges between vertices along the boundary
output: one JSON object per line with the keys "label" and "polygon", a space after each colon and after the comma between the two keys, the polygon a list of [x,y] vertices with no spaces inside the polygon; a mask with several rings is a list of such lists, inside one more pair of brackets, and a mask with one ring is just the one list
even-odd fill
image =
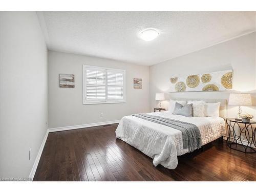
{"label": "pale upholstered headboard behind the bed pillows", "polygon": [[217,103],[221,102],[220,104],[220,117],[226,119],[227,117],[227,100],[226,99],[184,99],[184,98],[172,98],[173,100],[182,100],[182,101],[198,101],[198,100],[203,100],[206,103]]}

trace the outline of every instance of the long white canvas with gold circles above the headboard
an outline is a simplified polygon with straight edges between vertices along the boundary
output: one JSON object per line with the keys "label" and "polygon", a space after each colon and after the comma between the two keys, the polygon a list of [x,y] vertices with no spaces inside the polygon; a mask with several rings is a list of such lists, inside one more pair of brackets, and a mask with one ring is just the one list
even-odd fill
{"label": "long white canvas with gold circles above the headboard", "polygon": [[232,90],[233,71],[218,71],[170,78],[170,92]]}

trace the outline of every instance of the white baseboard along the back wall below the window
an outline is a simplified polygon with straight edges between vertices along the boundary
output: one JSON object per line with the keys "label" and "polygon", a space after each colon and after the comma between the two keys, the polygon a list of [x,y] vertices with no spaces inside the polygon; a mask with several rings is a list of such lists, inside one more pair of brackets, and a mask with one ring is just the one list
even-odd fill
{"label": "white baseboard along the back wall below the window", "polygon": [[63,127],[49,128],[48,131],[49,132],[59,132],[59,131],[75,130],[75,129],[81,129],[81,128],[88,128],[88,127],[92,127],[92,126],[101,126],[101,125],[106,125],[106,124],[119,123],[119,121],[120,120],[114,120],[114,121],[105,121],[105,122],[99,122],[99,123],[63,126]]}

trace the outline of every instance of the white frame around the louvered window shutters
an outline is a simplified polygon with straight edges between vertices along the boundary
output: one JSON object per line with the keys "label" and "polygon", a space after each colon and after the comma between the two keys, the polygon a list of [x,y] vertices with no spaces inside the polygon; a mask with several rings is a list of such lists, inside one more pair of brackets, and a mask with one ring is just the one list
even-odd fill
{"label": "white frame around the louvered window shutters", "polygon": [[[105,71],[105,94],[106,97],[108,96],[108,74],[106,73],[107,70],[111,71],[121,71],[123,73],[123,99],[122,100],[117,100],[117,99],[104,99],[104,100],[97,100],[97,101],[88,101],[86,99],[86,68],[94,68],[94,69],[99,69],[99,70],[104,70]],[[108,103],[125,103],[125,91],[126,91],[126,78],[125,78],[125,73],[126,70],[123,69],[115,69],[115,68],[106,68],[106,67],[100,67],[100,66],[90,66],[84,64],[82,67],[82,97],[83,97],[83,104],[108,104]]]}

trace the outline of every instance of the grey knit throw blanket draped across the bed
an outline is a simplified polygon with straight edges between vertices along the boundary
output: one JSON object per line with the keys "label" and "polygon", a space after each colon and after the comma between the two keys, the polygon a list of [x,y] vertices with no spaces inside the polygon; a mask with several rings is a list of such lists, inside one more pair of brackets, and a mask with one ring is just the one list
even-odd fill
{"label": "grey knit throw blanket draped across the bed", "polygon": [[180,130],[183,138],[183,148],[188,148],[188,152],[193,152],[202,146],[201,134],[195,124],[155,115],[134,114],[133,116]]}

